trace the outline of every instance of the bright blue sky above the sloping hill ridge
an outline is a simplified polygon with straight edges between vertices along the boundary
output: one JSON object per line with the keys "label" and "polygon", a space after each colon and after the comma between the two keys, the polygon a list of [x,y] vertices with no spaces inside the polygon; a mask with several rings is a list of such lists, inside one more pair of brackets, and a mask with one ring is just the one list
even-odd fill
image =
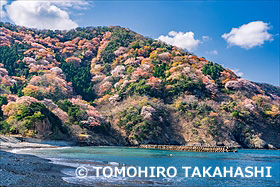
{"label": "bright blue sky above the sloping hill ridge", "polygon": [[[19,17],[18,13],[13,15],[17,10],[16,8],[19,12],[22,10],[20,4],[11,6],[12,1],[5,1],[6,3],[3,3],[4,0],[1,1],[2,4],[5,4],[1,11],[2,21],[30,26],[28,23],[32,20],[27,20],[29,21],[27,23],[17,18]],[[25,4],[22,6],[30,7],[30,5],[27,5],[30,1],[18,1]],[[248,80],[280,85],[279,1],[77,0],[68,2],[68,4],[67,1],[61,1],[61,3],[57,1],[54,3],[52,0],[44,1],[44,3],[46,2],[49,2],[49,5],[44,4],[46,10],[48,10],[48,6],[52,5],[63,11],[59,12],[57,10],[58,13],[52,13],[52,16],[47,15],[47,13],[50,13],[48,11],[43,14],[48,18],[47,20],[55,19],[53,15],[67,19],[64,21],[67,25],[61,25],[61,28],[75,27],[76,25],[81,27],[120,25],[154,39],[160,36],[166,37],[170,31],[175,31],[175,34],[191,32],[194,35],[190,38],[196,44],[187,45],[186,49],[191,49],[196,55],[206,57],[208,60],[224,65],[224,67],[239,70],[241,74],[243,73],[242,77]],[[69,18],[65,17],[64,12],[68,14]],[[26,15],[29,14],[26,13]],[[32,18],[34,17],[36,15],[32,16]],[[38,13],[38,17],[42,19],[42,13],[40,15]],[[34,18],[33,21],[34,26],[31,25],[33,27],[42,28],[44,25],[48,25],[48,23],[45,23],[43,26],[37,26],[37,20]],[[261,30],[261,33],[255,33],[255,37],[247,41],[248,38],[251,38],[247,30],[254,26],[249,23],[256,21],[258,21],[257,26],[263,30]],[[60,22],[57,23],[58,26],[59,24]],[[231,33],[233,28],[240,28],[241,26],[244,27],[239,29],[238,35]],[[225,33],[230,33],[231,37],[222,38]],[[247,33],[247,35],[244,36],[244,33]],[[208,40],[203,40],[203,36],[208,36]],[[256,43],[259,39],[256,37],[259,36],[262,39],[260,39],[260,43]],[[238,40],[240,37],[245,44]],[[172,36],[169,36],[169,38],[173,41]],[[175,42],[175,44],[177,43]]]}

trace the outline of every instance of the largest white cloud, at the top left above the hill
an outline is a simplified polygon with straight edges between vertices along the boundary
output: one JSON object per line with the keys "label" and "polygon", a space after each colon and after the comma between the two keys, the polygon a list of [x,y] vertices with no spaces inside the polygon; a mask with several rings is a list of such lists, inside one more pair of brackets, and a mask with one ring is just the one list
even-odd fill
{"label": "largest white cloud, at the top left above the hill", "polygon": [[6,5],[7,15],[17,25],[38,29],[68,30],[78,27],[71,20],[67,9],[84,9],[87,2],[83,0],[74,1],[25,1],[16,0]]}

